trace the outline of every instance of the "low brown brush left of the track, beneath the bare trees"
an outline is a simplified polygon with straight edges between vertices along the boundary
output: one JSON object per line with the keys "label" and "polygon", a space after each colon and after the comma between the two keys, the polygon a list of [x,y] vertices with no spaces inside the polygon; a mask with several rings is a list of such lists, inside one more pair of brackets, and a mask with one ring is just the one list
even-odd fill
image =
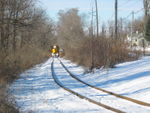
{"label": "low brown brush left of the track, beneath the bare trees", "polygon": [[8,101],[7,85],[18,78],[19,73],[43,62],[48,58],[48,50],[35,46],[24,46],[16,53],[0,53],[0,113],[18,113],[14,105]]}

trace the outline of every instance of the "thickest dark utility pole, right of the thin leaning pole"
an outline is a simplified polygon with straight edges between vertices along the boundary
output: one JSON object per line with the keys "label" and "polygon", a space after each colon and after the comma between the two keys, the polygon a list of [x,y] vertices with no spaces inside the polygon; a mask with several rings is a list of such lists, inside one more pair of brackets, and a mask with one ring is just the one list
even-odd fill
{"label": "thickest dark utility pole, right of the thin leaning pole", "polygon": [[115,38],[118,39],[118,0],[115,0]]}

